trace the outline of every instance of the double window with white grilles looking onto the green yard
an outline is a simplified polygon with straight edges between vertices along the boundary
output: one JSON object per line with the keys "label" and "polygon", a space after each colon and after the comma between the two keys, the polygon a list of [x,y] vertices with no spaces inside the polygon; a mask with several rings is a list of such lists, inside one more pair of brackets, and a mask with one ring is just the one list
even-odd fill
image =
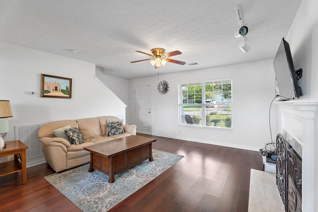
{"label": "double window with white grilles looking onto the green yard", "polygon": [[232,78],[181,84],[179,124],[232,128]]}

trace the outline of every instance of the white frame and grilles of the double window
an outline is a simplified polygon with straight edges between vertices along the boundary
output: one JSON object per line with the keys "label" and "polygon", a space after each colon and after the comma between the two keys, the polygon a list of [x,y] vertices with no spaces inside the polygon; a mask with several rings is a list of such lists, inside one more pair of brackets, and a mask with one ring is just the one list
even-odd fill
{"label": "white frame and grilles of the double window", "polygon": [[[222,84],[221,91],[220,90],[218,90],[218,91],[214,91],[213,90],[212,92],[211,91],[206,91],[206,85],[207,85],[208,82],[220,82],[220,81],[221,81],[221,84]],[[230,98],[230,101],[224,101],[225,99],[223,99],[223,94],[225,93],[223,91],[223,84],[226,84],[226,83],[224,83],[226,81],[230,81],[230,84],[231,84],[231,91],[230,91],[231,92],[231,94],[230,94],[231,98]],[[182,92],[183,91],[182,87],[183,87],[183,85],[186,85],[187,87],[189,87],[189,85],[191,85],[191,84],[194,84],[194,85],[200,84],[201,85],[201,90],[202,90],[202,92],[201,92],[201,96],[202,96],[201,103],[195,103],[196,102],[195,98],[193,100],[194,103],[189,103],[189,99],[187,100],[186,103],[183,103],[183,100],[184,100],[183,94],[184,93]],[[229,114],[230,114],[229,117],[230,117],[230,120],[231,120],[231,126],[230,127],[215,126],[215,125],[214,126],[209,126],[209,125],[207,125],[207,123],[206,123],[207,116],[211,114],[211,113],[210,114],[206,114],[207,111],[208,111],[207,107],[210,107],[212,105],[211,103],[210,104],[206,103],[206,100],[207,100],[206,99],[207,98],[206,94],[207,94],[207,92],[211,92],[213,94],[217,93],[217,92],[218,93],[221,92],[221,94],[219,95],[219,98],[220,98],[220,96],[222,97],[222,102],[218,102],[217,101],[216,103],[213,103],[213,106],[215,108],[215,111],[217,111],[218,105],[222,105],[222,106],[226,105],[227,106],[226,108],[230,107],[231,111],[230,112],[228,111]],[[228,91],[226,91],[226,92],[228,92]],[[189,93],[187,93],[187,94],[189,94]],[[185,121],[185,113],[183,112],[183,106],[197,106],[198,108],[200,108],[198,114],[201,113],[200,114],[201,117],[199,115],[199,119],[193,121],[193,124],[187,124],[186,121]],[[193,116],[195,116],[195,115],[193,115]],[[192,119],[191,119],[191,121],[192,121]],[[200,121],[201,121],[201,124],[200,124]],[[223,124],[224,124],[224,122],[223,122]],[[192,81],[192,82],[188,82],[188,83],[180,83],[178,85],[178,125],[179,126],[187,126],[187,127],[197,127],[197,128],[199,127],[199,128],[209,128],[209,129],[233,130],[233,78],[231,77],[231,78],[221,78],[221,79],[209,79],[209,80],[203,80],[203,81]]]}

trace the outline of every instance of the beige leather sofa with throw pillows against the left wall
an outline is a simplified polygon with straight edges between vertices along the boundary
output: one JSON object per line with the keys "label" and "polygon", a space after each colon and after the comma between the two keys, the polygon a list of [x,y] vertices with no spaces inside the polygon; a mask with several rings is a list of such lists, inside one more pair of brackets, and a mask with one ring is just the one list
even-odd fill
{"label": "beige leather sofa with throw pillows against the left wall", "polygon": [[[111,141],[131,135],[136,135],[136,125],[124,125],[124,133],[106,136],[106,120],[118,119],[114,116],[101,116],[78,120],[63,120],[44,124],[38,131],[38,137],[47,163],[56,171],[63,171],[90,161],[90,153],[83,149],[85,146]],[[77,127],[84,142],[70,144],[63,138],[55,137],[53,130],[70,125]]]}

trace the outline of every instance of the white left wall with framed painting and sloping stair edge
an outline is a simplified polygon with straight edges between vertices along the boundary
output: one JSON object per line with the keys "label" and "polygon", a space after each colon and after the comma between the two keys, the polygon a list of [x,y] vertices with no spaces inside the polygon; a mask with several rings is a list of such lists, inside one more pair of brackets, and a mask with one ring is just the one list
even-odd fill
{"label": "white left wall with framed painting and sloping stair edge", "polygon": [[[0,61],[0,99],[10,100],[13,113],[5,141],[15,139],[18,125],[103,115],[125,119],[125,107],[94,79],[94,64],[4,42]],[[72,78],[72,99],[41,98],[41,73]]]}

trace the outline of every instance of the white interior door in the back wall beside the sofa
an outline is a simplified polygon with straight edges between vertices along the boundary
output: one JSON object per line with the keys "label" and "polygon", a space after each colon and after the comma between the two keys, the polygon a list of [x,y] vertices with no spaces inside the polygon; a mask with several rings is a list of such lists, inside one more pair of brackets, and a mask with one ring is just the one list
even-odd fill
{"label": "white interior door in the back wall beside the sofa", "polygon": [[135,123],[137,133],[152,134],[150,85],[135,87]]}

